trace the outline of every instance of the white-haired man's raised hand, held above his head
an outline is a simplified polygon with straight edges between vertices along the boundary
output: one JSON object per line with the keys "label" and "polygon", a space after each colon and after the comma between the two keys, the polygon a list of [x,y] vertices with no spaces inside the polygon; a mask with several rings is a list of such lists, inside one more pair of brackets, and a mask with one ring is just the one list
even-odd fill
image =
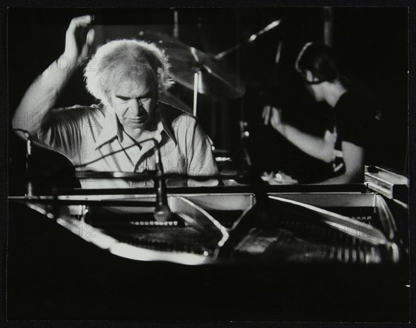
{"label": "white-haired man's raised hand, held above his head", "polygon": [[[92,42],[94,42],[94,29],[89,28],[91,21],[91,15],[75,17],[67,29],[63,56],[67,57],[74,67],[87,59],[91,52]],[[85,33],[86,29],[89,29],[88,33]]]}

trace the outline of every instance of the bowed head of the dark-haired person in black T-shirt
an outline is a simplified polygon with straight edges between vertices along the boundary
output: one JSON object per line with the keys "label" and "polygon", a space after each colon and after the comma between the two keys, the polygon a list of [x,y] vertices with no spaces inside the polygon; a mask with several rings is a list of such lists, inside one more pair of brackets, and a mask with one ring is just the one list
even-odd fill
{"label": "bowed head of the dark-haired person in black T-shirt", "polygon": [[332,49],[326,44],[308,42],[304,45],[295,69],[316,100],[323,100],[322,88],[340,81],[340,73]]}

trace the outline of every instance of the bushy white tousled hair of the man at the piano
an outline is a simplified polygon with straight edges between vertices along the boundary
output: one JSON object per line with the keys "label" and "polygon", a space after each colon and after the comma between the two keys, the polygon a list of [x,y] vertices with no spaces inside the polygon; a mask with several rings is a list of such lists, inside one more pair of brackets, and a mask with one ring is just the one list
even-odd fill
{"label": "bushy white tousled hair of the man at the piano", "polygon": [[174,81],[169,71],[168,57],[154,44],[135,39],[118,39],[100,46],[84,69],[89,93],[107,102],[117,78],[125,75],[140,76],[151,71],[159,93],[169,89]]}

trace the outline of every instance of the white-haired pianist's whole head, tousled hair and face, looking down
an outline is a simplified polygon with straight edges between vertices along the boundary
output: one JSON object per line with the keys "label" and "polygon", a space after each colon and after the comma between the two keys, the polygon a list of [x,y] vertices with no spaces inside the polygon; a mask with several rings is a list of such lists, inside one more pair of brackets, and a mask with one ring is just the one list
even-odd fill
{"label": "white-haired pianist's whole head, tousled hair and face, looking down", "polygon": [[144,127],[152,118],[159,93],[173,84],[164,52],[132,39],[98,48],[84,75],[89,93],[110,105],[124,127]]}

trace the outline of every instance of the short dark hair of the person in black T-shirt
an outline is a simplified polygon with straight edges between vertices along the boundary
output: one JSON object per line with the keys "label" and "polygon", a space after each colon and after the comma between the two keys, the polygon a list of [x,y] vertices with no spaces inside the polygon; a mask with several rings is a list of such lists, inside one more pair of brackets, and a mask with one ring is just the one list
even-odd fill
{"label": "short dark hair of the person in black T-shirt", "polygon": [[303,77],[306,70],[318,79],[318,82],[333,82],[340,78],[335,54],[326,44],[308,42],[302,48],[297,60],[295,68]]}

